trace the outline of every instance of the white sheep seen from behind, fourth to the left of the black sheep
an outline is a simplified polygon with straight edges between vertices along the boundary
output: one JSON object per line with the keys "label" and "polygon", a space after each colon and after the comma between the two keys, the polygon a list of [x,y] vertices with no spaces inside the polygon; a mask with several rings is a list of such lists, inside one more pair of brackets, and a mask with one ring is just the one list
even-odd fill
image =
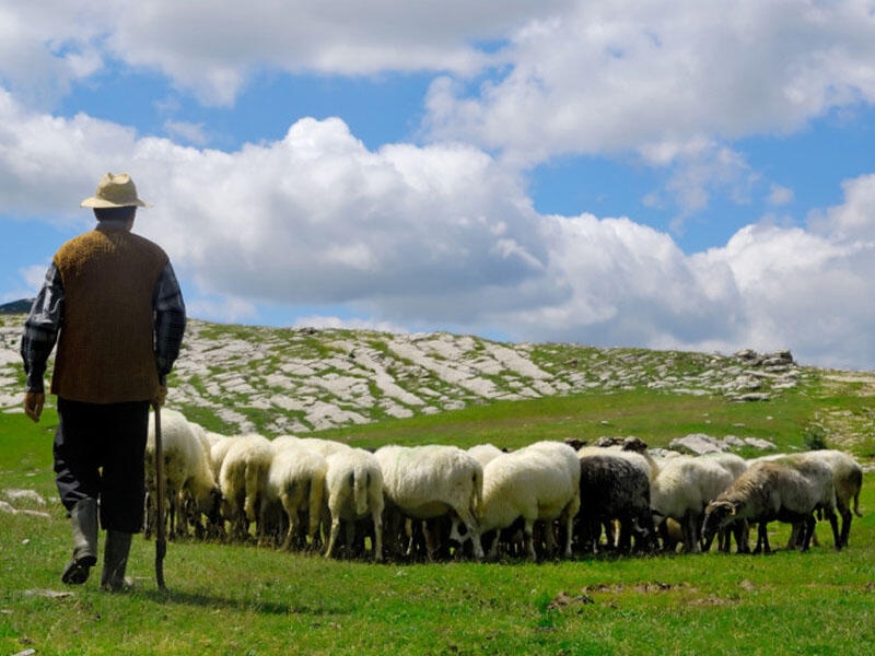
{"label": "white sheep seen from behind, fourth to the left of the black sheep", "polygon": [[[315,546],[325,496],[328,461],[325,456],[294,438],[277,438],[261,499],[260,525],[267,526],[273,506],[281,506],[287,531],[281,549],[291,549],[300,514],[306,514],[305,539]],[[261,531],[264,536],[265,530]]]}

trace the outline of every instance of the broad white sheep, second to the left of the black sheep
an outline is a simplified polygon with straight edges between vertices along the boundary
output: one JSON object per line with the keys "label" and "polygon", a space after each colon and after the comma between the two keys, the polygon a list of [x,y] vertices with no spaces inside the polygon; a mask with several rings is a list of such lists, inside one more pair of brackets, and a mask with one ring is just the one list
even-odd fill
{"label": "broad white sheep, second to the left of the black sheep", "polygon": [[[467,529],[474,555],[480,560],[480,526],[477,520],[482,490],[483,468],[467,452],[445,445],[381,447],[374,454],[383,471],[383,490],[387,508],[404,517],[429,520],[452,515]],[[396,531],[397,532],[397,531]],[[430,557],[433,557],[430,549]]]}

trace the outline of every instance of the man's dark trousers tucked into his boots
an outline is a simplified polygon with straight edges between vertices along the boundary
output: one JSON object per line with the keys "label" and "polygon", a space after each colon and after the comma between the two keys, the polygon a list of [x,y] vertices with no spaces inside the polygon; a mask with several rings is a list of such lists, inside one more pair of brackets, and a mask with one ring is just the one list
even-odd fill
{"label": "man's dark trousers tucked into his boots", "polygon": [[149,401],[82,403],[58,398],[55,481],[69,511],[100,501],[104,529],[139,532],[145,503]]}

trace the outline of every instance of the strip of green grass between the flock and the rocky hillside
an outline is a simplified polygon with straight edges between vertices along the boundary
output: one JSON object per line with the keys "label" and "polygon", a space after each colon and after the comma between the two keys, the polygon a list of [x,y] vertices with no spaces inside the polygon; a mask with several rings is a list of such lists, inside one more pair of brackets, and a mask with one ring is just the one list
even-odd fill
{"label": "strip of green grass between the flock and the rocky hillside", "polygon": [[[785,394],[768,402],[737,403],[722,397],[639,389],[497,401],[440,414],[334,429],[320,435],[364,447],[387,443],[467,447],[491,442],[513,448],[537,440],[576,437],[593,443],[600,436],[628,435],[641,437],[651,447],[667,447],[676,437],[707,433],[719,438],[759,437],[786,450],[806,448],[812,423],[819,412],[841,405],[865,414],[872,403],[872,399],[813,398],[803,394]],[[824,433],[827,445],[836,446],[829,430],[824,429]],[[875,455],[873,433],[858,440],[850,450],[859,456]]]}

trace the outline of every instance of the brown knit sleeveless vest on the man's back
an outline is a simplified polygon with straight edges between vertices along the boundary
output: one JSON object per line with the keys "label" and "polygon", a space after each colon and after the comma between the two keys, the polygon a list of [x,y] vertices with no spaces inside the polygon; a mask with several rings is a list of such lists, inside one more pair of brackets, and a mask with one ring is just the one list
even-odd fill
{"label": "brown knit sleeveless vest on the man's back", "polygon": [[160,246],[98,227],[55,255],[63,319],[51,393],[72,401],[144,401],[158,391],[152,297],[167,262]]}

